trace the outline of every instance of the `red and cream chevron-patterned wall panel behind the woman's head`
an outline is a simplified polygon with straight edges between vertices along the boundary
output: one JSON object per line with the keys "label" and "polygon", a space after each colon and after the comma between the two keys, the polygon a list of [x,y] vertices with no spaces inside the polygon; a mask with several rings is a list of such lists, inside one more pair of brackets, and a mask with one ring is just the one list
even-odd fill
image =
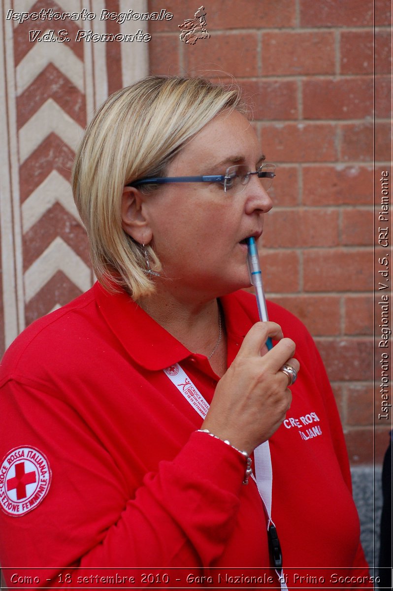
{"label": "red and cream chevron-patterned wall panel behind the woman's head", "polygon": [[[43,8],[98,13],[115,6],[120,11],[123,4],[4,0],[0,6],[0,356],[25,326],[77,297],[94,281],[70,186],[74,151],[96,108],[133,77],[124,72],[121,50],[116,54],[111,48],[108,59],[106,44],[75,41],[86,21],[19,23],[6,16],[10,10],[32,13]],[[137,4],[142,8],[144,2]],[[88,28],[102,34],[106,26],[111,24],[95,19]],[[38,29],[41,34],[66,29],[70,41],[30,41],[29,31]],[[132,62],[130,56],[128,60]],[[134,77],[144,74],[137,69]]]}

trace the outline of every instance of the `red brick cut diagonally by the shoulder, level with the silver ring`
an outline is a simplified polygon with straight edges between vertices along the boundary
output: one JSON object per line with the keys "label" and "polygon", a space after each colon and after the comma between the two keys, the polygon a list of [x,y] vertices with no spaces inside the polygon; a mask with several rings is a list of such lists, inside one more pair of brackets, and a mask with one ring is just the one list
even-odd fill
{"label": "red brick cut diagonally by the shoulder, level with the silver ring", "polygon": [[321,358],[332,382],[372,380],[371,339],[316,339]]}

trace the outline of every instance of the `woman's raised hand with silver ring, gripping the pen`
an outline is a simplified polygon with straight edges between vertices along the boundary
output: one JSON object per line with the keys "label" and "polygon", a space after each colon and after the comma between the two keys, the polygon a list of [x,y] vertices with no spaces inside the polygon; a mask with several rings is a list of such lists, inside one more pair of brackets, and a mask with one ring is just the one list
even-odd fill
{"label": "woman's raised hand with silver ring, gripping the pen", "polygon": [[[279,340],[267,351],[268,336]],[[249,330],[232,365],[217,384],[203,429],[252,453],[280,427],[291,406],[288,377],[280,368],[293,358],[295,343],[284,339],[274,322],[258,322]]]}

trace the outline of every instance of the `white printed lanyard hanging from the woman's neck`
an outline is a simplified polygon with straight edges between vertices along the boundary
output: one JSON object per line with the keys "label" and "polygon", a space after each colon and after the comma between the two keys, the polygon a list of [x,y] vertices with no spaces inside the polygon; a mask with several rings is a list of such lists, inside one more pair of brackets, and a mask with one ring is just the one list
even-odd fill
{"label": "white printed lanyard hanging from the woman's neck", "polygon": [[[170,381],[176,386],[178,391],[186,398],[187,402],[197,411],[197,413],[205,418],[207,411],[209,410],[209,403],[206,402],[199,389],[191,382],[189,376],[186,374],[184,369],[180,367],[178,363],[165,368],[164,374],[168,376]],[[272,544],[274,545],[275,539],[275,526],[271,518],[271,502],[272,502],[272,467],[269,441],[264,441],[254,450],[254,463],[255,463],[255,475],[252,474],[252,479],[255,481],[258,487],[259,496],[261,496],[262,502],[265,507],[265,511],[268,516],[268,532]],[[278,538],[277,538],[278,543]],[[281,584],[282,591],[288,591],[288,587],[285,584],[284,571],[281,568],[281,573],[276,569],[278,580]]]}

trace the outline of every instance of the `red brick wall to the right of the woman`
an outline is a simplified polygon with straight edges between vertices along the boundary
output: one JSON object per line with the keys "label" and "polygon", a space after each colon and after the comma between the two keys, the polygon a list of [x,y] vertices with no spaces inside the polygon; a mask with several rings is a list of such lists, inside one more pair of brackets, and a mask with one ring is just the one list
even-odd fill
{"label": "red brick wall to the right of the woman", "polygon": [[268,296],[315,337],[351,462],[372,462],[374,422],[380,462],[389,426],[373,408],[373,169],[376,181],[391,171],[391,2],[204,7],[210,38],[190,45],[177,25],[199,4],[165,3],[174,18],[150,23],[150,73],[234,76],[254,103],[263,150],[278,165],[261,249]]}

